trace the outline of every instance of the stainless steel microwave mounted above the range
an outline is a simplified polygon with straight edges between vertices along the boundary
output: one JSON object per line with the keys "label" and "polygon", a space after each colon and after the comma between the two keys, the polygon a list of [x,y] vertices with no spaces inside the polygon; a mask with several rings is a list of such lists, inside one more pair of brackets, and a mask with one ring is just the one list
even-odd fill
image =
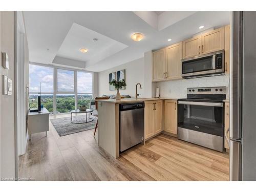
{"label": "stainless steel microwave mounted above the range", "polygon": [[182,59],[182,77],[185,79],[224,73],[224,50]]}

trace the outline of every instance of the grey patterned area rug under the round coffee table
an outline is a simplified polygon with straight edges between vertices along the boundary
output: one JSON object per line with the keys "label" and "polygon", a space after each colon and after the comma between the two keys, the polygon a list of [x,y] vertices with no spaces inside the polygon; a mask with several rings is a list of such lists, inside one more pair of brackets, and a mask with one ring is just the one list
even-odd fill
{"label": "grey patterned area rug under the round coffee table", "polygon": [[[97,122],[97,117],[90,115],[90,118],[92,118],[94,120],[89,123],[81,123],[81,124],[71,123],[70,117],[51,119],[51,122],[52,122],[55,130],[61,137],[61,136],[70,135],[73,133],[78,133],[78,132],[94,129],[95,124]],[[73,121],[75,121],[75,122],[84,122],[85,120],[86,120],[85,115],[73,116]]]}

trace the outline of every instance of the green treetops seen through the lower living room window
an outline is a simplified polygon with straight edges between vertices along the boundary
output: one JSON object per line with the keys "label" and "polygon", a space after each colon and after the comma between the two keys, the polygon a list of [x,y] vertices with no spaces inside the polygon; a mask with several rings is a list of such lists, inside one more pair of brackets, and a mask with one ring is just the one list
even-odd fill
{"label": "green treetops seen through the lower living room window", "polygon": [[[90,108],[90,100],[92,95],[77,95],[77,106],[86,105]],[[29,96],[31,108],[37,108],[37,95]],[[53,114],[53,95],[41,95],[41,104]],[[75,109],[75,95],[56,95],[56,113],[68,113]]]}

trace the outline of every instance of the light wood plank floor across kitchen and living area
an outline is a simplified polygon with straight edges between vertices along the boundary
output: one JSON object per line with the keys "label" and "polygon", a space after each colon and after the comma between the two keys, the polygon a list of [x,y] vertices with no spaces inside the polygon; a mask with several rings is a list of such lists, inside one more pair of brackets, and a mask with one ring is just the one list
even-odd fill
{"label": "light wood plank floor across kitchen and living area", "polygon": [[33,134],[27,153],[19,157],[19,177],[38,181],[228,180],[227,153],[161,134],[115,159],[98,147],[93,132],[59,137],[50,122],[48,136]]}

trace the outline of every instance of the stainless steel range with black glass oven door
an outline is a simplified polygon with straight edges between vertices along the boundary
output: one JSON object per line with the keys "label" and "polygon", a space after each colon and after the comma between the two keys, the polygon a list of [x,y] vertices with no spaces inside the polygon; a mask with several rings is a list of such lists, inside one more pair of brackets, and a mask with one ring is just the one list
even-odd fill
{"label": "stainless steel range with black glass oven door", "polygon": [[223,152],[225,91],[188,88],[187,98],[178,100],[179,139]]}

